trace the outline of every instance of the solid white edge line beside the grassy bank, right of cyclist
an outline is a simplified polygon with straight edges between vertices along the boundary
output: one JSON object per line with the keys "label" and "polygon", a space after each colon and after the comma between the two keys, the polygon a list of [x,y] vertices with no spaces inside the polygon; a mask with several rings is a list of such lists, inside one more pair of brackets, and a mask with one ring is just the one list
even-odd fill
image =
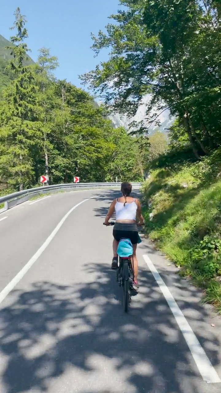
{"label": "solid white edge line beside the grassy bank, right of cyclist", "polygon": [[192,331],[189,323],[187,322],[186,318],[184,317],[182,311],[179,309],[175,299],[173,298],[171,292],[169,291],[168,287],[160,277],[157,269],[155,268],[154,264],[149,259],[148,255],[143,255],[144,261],[149,267],[149,270],[153,274],[153,277],[157,281],[157,284],[160,287],[162,294],[164,295],[169,308],[171,309],[175,320],[186,340],[188,347],[190,348],[190,352],[192,353],[193,359],[199,369],[199,372],[202,375],[204,381],[208,383],[219,383],[221,379],[219,375],[215,371],[214,367],[210,363],[210,360],[206,356],[204,349],[201,347],[197,337],[195,336],[194,332]]}

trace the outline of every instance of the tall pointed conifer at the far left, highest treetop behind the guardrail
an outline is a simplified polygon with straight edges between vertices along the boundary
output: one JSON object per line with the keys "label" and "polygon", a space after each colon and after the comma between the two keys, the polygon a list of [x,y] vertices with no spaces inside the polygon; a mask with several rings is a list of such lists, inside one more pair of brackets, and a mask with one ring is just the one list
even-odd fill
{"label": "tall pointed conifer at the far left, highest treetop behind the guardrail", "polygon": [[[33,183],[32,149],[41,143],[41,108],[35,70],[27,64],[28,47],[24,40],[28,37],[25,17],[20,9],[15,11],[17,34],[11,37],[11,60],[7,70],[13,80],[4,91],[0,109],[0,143],[4,146],[0,158],[1,167],[7,168],[9,183],[15,187]],[[13,29],[12,28],[12,29]]]}

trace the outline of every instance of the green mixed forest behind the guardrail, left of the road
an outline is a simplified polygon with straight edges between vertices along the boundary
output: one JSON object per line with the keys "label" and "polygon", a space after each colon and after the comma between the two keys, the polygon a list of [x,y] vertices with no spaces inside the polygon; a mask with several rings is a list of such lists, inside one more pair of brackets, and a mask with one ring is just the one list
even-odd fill
{"label": "green mixed forest behind the guardrail, left of the road", "polygon": [[[0,189],[22,190],[39,183],[140,181],[147,144],[114,129],[93,97],[53,72],[57,58],[39,51],[27,56],[28,32],[20,10],[15,35],[0,36]],[[7,47],[5,49],[5,46]]]}

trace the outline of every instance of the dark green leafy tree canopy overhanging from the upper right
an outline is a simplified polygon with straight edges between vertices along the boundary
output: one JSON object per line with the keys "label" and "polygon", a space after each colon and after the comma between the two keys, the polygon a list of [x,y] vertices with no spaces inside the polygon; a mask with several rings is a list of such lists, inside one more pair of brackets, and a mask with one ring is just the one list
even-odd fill
{"label": "dark green leafy tree canopy overhanging from the upper right", "polygon": [[[82,76],[104,95],[113,111],[135,114],[144,94],[149,125],[157,108],[177,116],[172,145],[192,147],[195,157],[220,145],[221,18],[219,2],[208,0],[120,0],[107,33],[92,35],[109,60]],[[140,125],[140,132],[145,132]]]}

